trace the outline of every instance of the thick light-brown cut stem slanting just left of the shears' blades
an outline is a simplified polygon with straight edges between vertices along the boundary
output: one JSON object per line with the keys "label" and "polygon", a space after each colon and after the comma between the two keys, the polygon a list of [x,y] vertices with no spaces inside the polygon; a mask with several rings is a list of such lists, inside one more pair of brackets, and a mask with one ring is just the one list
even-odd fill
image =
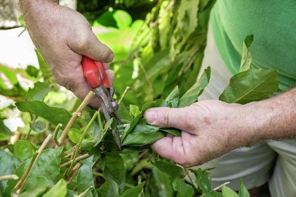
{"label": "thick light-brown cut stem slanting just left of the shears' blades", "polygon": [[95,96],[95,93],[90,91],[88,93],[88,95],[85,97],[85,99],[82,101],[82,103],[80,104],[80,106],[77,108],[77,110],[73,113],[70,121],[68,122],[66,128],[64,129],[61,137],[59,138],[58,142],[59,142],[59,146],[61,146],[64,143],[65,138],[67,137],[67,132],[68,130],[72,127],[72,125],[75,123],[75,121],[77,120],[77,118],[79,116],[81,116],[82,110],[85,108],[85,106],[88,104],[88,102],[90,101],[90,99],[92,99]]}

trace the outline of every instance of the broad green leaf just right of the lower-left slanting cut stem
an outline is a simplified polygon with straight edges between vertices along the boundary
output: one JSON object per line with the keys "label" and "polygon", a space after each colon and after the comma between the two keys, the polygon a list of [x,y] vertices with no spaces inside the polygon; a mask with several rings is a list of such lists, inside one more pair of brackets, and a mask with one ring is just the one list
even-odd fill
{"label": "broad green leaf just right of the lower-left slanting cut stem", "polygon": [[46,177],[51,184],[55,183],[56,176],[60,172],[60,154],[62,150],[63,147],[42,151],[28,176],[25,187],[30,187],[37,176]]}

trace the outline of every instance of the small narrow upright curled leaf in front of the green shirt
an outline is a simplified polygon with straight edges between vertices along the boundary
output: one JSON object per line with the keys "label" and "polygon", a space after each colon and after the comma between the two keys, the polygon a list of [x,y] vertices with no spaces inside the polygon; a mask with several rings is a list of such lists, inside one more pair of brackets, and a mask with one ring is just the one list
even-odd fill
{"label": "small narrow upright curled leaf in front of the green shirt", "polygon": [[253,40],[254,40],[253,34],[248,35],[244,40],[242,60],[241,60],[239,72],[247,71],[251,67],[252,57],[251,57],[251,53],[249,51],[249,47],[253,43]]}

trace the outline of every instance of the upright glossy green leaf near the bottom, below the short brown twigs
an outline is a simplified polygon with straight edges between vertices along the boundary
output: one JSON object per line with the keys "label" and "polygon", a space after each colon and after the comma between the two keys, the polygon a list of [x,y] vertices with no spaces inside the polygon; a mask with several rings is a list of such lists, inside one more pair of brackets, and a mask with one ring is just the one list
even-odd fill
{"label": "upright glossy green leaf near the bottom, below the short brown twigs", "polygon": [[84,192],[89,187],[95,188],[94,178],[92,175],[92,164],[94,156],[79,161],[82,164],[77,176],[77,192],[78,194]]}

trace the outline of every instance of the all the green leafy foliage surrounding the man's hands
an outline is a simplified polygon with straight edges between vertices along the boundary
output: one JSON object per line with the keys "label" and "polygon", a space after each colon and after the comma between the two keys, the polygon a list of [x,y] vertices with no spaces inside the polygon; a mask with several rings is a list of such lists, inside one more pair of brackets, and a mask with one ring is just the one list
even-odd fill
{"label": "all the green leafy foliage surrounding the man's hands", "polygon": [[[203,70],[197,81],[196,78],[214,2],[158,1],[145,21],[133,21],[123,10],[100,16],[112,19],[113,27],[103,24],[100,17],[94,20],[94,31],[95,28],[109,31],[96,35],[115,53],[111,64],[115,72],[115,97],[120,98],[125,87],[131,87],[118,109],[122,125],[116,125],[114,118],[106,122],[102,112],[86,107],[66,131],[81,101],[67,99],[63,89],[53,81],[42,56],[37,52],[40,70],[32,66],[26,70],[1,66],[12,87],[1,83],[0,94],[14,97],[14,105],[26,126],[11,132],[3,122],[4,112],[10,111],[11,106],[1,109],[0,176],[15,174],[19,179],[0,181],[0,196],[250,197],[242,180],[238,195],[227,186],[222,187],[222,193],[213,190],[209,172],[200,168],[188,169],[198,186],[194,189],[193,183],[184,180],[182,166],[161,158],[149,148],[149,144],[168,133],[181,136],[181,131],[150,126],[143,119],[148,108],[189,106],[203,93],[211,68]],[[127,6],[139,2],[120,0],[120,3]],[[250,69],[250,40],[251,35],[244,42],[242,72],[231,78],[220,97],[225,102],[245,104],[265,99],[278,90],[278,71]],[[34,88],[25,89],[15,77],[17,73],[33,81]],[[121,134],[121,150],[111,133],[116,128]],[[66,131],[69,139],[62,146],[56,145],[54,142],[62,131]],[[54,141],[50,140],[51,135]]]}

